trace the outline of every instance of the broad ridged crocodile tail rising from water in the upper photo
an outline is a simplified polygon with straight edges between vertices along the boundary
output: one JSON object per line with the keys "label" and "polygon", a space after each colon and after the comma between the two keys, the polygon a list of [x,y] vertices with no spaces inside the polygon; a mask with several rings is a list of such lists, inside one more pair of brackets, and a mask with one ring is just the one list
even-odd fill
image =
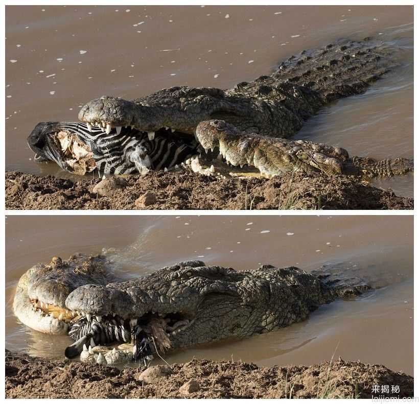
{"label": "broad ridged crocodile tail rising from water in the upper photo", "polygon": [[396,65],[391,54],[388,47],[371,38],[342,40],[291,56],[272,77],[310,88],[326,104],[364,92]]}

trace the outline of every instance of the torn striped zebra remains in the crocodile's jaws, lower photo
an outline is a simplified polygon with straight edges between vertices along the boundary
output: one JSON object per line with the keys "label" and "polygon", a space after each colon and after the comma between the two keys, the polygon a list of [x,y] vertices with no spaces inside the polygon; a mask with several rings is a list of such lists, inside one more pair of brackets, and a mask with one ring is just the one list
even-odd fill
{"label": "torn striped zebra remains in the crocodile's jaws, lower photo", "polygon": [[144,362],[149,361],[154,353],[160,355],[171,349],[171,337],[191,326],[194,319],[180,313],[160,315],[149,312],[139,318],[123,318],[81,312],[70,321],[68,335],[75,342],[65,349],[67,358],[74,358],[83,349],[96,345],[130,342],[132,360]]}

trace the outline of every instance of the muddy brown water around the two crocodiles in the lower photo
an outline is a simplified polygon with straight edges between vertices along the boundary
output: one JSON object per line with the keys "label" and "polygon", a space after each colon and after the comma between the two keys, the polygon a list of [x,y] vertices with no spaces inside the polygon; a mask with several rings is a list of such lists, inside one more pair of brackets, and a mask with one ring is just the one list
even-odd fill
{"label": "muddy brown water around the two crocodiles in the lower photo", "polygon": [[19,277],[38,262],[103,251],[130,277],[180,260],[248,270],[260,264],[311,271],[339,267],[377,287],[354,301],[337,300],[308,320],[241,341],[191,347],[167,355],[315,364],[335,352],[413,375],[413,220],[407,216],[118,216],[6,219],[6,348],[62,358],[71,342],[22,325],[12,312]]}

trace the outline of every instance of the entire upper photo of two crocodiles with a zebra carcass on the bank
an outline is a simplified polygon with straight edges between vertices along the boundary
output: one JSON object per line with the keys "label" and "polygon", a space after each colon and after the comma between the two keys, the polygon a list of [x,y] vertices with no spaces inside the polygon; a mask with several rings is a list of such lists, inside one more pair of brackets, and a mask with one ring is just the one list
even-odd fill
{"label": "entire upper photo of two crocodiles with a zebra carcass on the bank", "polygon": [[413,6],[7,6],[6,209],[413,209]]}

